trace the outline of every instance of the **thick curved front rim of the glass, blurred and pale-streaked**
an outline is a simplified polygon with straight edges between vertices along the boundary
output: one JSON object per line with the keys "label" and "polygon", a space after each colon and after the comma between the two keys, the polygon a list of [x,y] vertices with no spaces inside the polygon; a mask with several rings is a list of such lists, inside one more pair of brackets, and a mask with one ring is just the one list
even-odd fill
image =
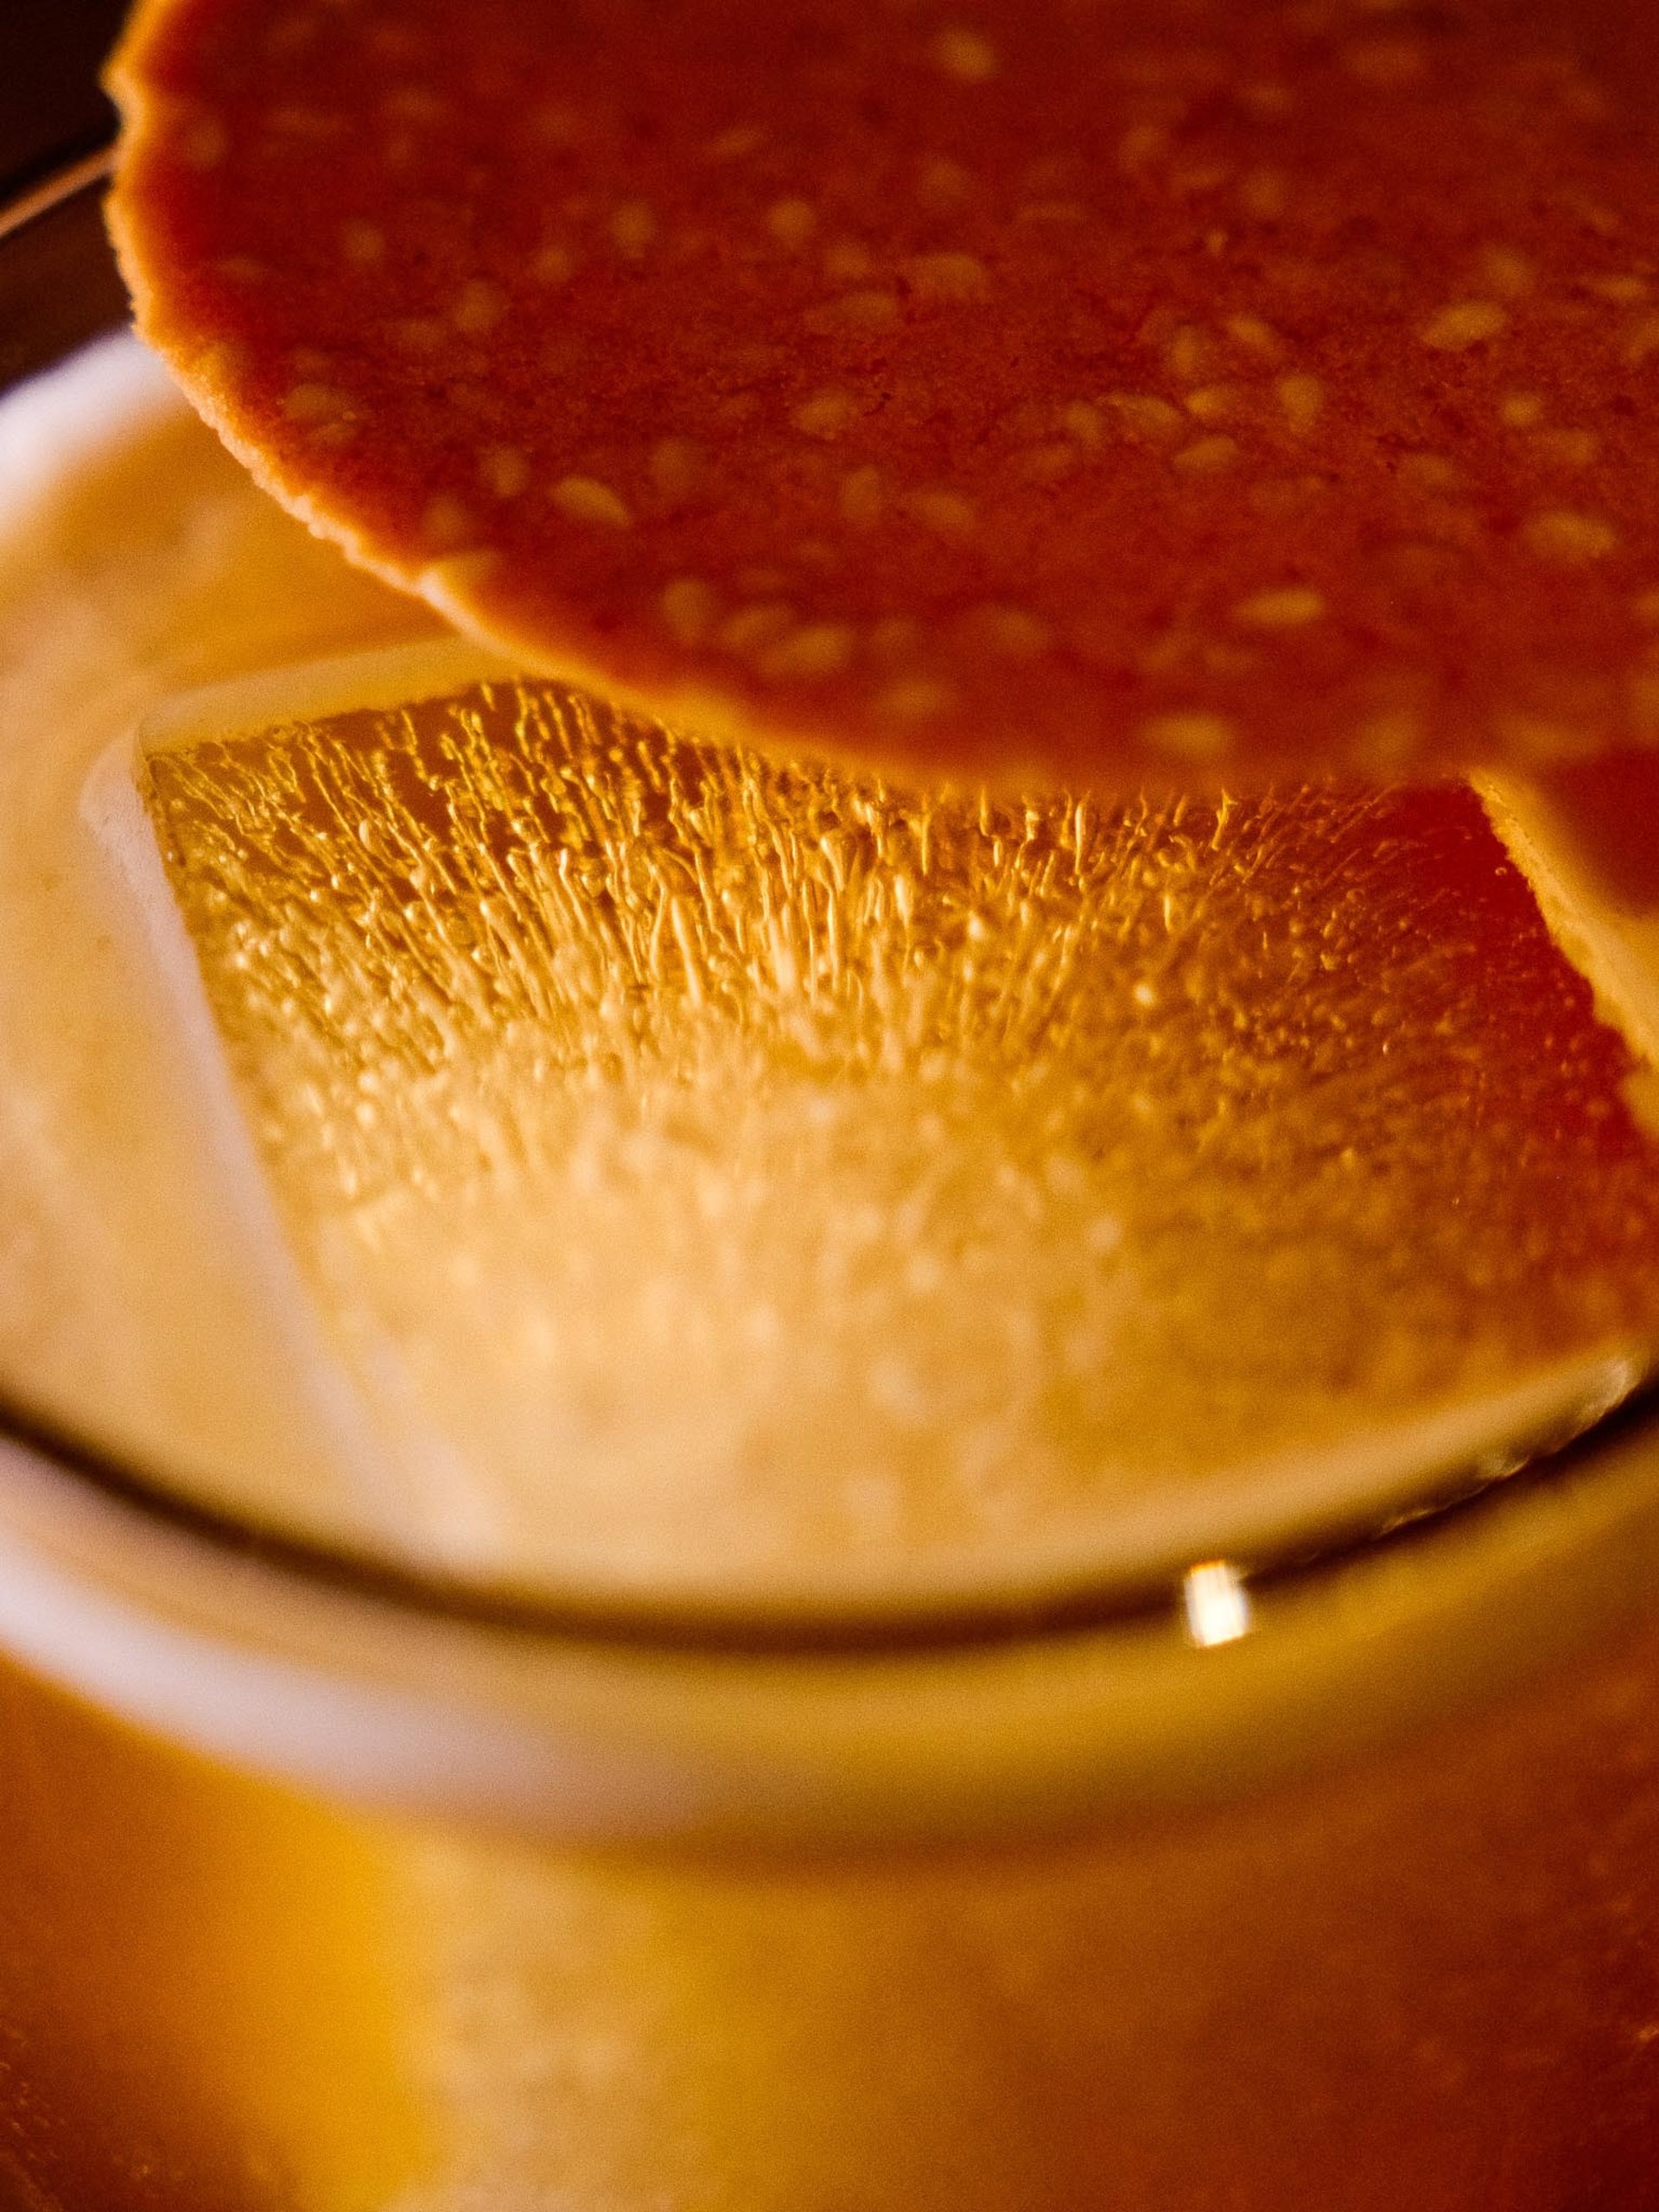
{"label": "thick curved front rim of the glass, blurred and pale-streaked", "polygon": [[562,1843],[1018,1843],[1387,1752],[1655,1621],[1659,1425],[1250,1593],[956,1648],[606,1644],[204,1542],[0,1444],[0,1644],[208,1756]]}

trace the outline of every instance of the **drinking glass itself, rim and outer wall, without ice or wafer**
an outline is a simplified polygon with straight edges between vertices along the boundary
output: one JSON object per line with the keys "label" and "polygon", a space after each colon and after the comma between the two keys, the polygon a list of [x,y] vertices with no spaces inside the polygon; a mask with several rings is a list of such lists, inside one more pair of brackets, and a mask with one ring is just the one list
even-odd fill
{"label": "drinking glass itself, rim and outer wall, without ice or wafer", "polygon": [[[119,312],[95,197],[0,243],[13,378]],[[4,2203],[1659,2201],[1641,1396],[1248,1586],[863,1624],[465,1584],[0,1396]]]}

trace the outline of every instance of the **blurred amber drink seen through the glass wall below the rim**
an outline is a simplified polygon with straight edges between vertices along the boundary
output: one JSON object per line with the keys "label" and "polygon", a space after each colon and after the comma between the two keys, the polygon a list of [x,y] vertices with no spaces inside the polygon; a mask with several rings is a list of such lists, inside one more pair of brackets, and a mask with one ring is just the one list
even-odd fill
{"label": "blurred amber drink seen through the glass wall below the rim", "polygon": [[836,1865],[345,1818],[7,1677],[0,2203],[1646,2212],[1657,1710],[1650,1637],[1225,1814]]}

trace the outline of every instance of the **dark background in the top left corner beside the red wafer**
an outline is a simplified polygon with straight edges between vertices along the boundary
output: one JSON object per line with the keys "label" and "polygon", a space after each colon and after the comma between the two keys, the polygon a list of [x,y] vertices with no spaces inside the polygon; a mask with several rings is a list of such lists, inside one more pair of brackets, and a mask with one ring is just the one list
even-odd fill
{"label": "dark background in the top left corner beside the red wafer", "polygon": [[97,71],[126,0],[0,0],[0,204],[115,128]]}

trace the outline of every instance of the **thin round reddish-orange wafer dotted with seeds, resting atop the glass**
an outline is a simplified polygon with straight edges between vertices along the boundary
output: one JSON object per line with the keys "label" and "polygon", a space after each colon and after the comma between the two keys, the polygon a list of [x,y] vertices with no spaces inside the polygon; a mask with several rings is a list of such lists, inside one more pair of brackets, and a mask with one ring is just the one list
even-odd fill
{"label": "thin round reddish-orange wafer dotted with seeds, resting atop the glass", "polygon": [[1659,739],[1657,84],[1648,0],[150,0],[115,228],[279,498],[706,734],[1548,774]]}

